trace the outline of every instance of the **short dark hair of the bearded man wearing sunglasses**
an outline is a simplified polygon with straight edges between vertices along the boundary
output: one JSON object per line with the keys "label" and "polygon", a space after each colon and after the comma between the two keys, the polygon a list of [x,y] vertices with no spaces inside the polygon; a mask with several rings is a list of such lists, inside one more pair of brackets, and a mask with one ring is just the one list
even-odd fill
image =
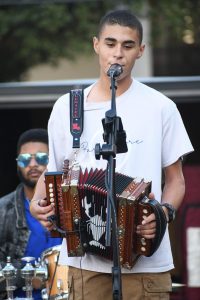
{"label": "short dark hair of the bearded man wearing sunglasses", "polygon": [[48,145],[48,133],[44,128],[33,128],[23,132],[17,142],[17,154],[21,146],[29,142],[40,142]]}

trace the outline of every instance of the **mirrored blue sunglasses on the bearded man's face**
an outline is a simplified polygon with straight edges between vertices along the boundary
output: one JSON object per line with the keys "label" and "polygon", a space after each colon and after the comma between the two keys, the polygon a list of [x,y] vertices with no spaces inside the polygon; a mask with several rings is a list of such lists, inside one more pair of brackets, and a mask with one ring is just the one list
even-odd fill
{"label": "mirrored blue sunglasses on the bearded man's face", "polygon": [[35,154],[23,153],[19,154],[16,158],[18,166],[20,168],[26,168],[30,164],[32,157],[34,157],[38,165],[46,166],[49,162],[49,156],[45,152],[37,152]]}

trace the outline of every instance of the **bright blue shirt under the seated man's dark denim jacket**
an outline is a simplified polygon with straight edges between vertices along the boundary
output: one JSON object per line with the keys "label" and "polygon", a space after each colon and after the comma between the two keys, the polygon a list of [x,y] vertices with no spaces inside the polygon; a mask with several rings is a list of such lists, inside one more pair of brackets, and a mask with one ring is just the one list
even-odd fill
{"label": "bright blue shirt under the seated man's dark denim jacket", "polygon": [[[61,238],[52,238],[50,232],[47,231],[38,220],[36,220],[30,213],[30,201],[25,199],[25,215],[28,228],[30,230],[30,236],[27,243],[27,247],[24,253],[24,257],[31,256],[40,258],[41,254],[56,245],[60,245],[62,242]],[[15,291],[15,297],[25,298],[26,294],[21,289]],[[33,298],[35,300],[41,300],[41,291],[33,290]]]}

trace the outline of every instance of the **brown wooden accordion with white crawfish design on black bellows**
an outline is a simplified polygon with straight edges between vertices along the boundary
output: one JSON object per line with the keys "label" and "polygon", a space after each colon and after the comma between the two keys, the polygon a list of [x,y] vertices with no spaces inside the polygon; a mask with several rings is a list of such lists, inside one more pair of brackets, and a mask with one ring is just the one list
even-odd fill
{"label": "brown wooden accordion with white crawfish design on black bellows", "polygon": [[[64,172],[46,172],[47,204],[55,207],[50,217],[52,237],[66,237],[68,256],[86,252],[112,259],[112,245],[106,246],[107,190],[105,170],[82,171],[77,164]],[[132,268],[139,256],[151,256],[159,247],[166,229],[161,205],[148,199],[151,182],[115,174],[116,214],[121,266]],[[145,239],[136,226],[151,213],[156,216],[156,237]],[[112,235],[112,233],[111,233]]]}

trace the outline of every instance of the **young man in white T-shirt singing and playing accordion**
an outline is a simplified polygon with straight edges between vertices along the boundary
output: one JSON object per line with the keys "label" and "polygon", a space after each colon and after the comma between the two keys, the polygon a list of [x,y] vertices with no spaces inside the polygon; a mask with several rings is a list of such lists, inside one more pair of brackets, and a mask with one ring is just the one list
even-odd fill
{"label": "young man in white T-shirt singing and playing accordion", "polygon": [[[83,168],[105,168],[105,160],[95,160],[96,143],[103,143],[102,123],[111,107],[111,65],[120,64],[123,73],[117,79],[116,107],[127,135],[128,152],[117,155],[116,171],[131,177],[152,181],[155,199],[163,206],[167,220],[171,221],[185,192],[181,157],[193,148],[185,131],[176,105],[164,95],[138,82],[131,76],[137,59],[144,52],[142,25],[128,11],[113,11],[102,18],[94,50],[99,56],[100,76],[84,91],[84,131],[77,161]],[[54,105],[49,124],[50,160],[48,171],[62,170],[64,159],[73,159],[72,136],[69,123],[69,95],[62,96]],[[162,170],[165,185],[161,193]],[[31,202],[32,214],[48,229],[52,225],[47,216],[53,213],[51,205],[38,206],[45,198],[43,177],[38,182]],[[40,200],[40,205],[45,205]],[[137,234],[155,237],[155,216],[151,214],[137,227]],[[63,249],[65,244],[63,243]],[[66,251],[66,252],[64,252]],[[100,256],[67,257],[72,278],[70,299],[112,299],[112,262]],[[122,268],[122,295],[125,300],[169,299],[173,268],[168,232],[159,249],[151,256],[141,256],[131,270]]]}

